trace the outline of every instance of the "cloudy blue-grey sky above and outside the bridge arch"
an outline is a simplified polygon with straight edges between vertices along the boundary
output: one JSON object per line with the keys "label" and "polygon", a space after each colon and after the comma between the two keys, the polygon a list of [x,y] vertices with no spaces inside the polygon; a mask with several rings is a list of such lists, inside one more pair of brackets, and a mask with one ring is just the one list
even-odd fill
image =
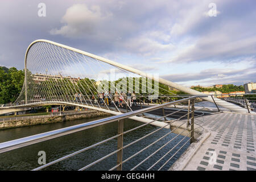
{"label": "cloudy blue-grey sky above and outside the bridge arch", "polygon": [[[38,15],[39,3],[46,16]],[[23,69],[28,45],[48,39],[185,86],[256,82],[255,0],[0,5],[0,65],[6,67]]]}

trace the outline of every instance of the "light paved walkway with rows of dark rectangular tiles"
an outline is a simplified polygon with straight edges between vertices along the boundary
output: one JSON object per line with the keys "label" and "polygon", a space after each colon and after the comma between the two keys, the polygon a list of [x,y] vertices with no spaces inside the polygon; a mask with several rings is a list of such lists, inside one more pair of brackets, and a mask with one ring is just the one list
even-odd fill
{"label": "light paved walkway with rows of dark rectangular tiles", "polygon": [[256,170],[256,115],[220,113],[198,123],[211,135],[184,170]]}

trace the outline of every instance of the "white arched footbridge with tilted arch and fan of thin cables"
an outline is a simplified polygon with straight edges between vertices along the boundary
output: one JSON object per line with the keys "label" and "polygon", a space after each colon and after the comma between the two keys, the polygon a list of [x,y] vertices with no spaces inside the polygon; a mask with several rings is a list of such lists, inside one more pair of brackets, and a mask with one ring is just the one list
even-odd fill
{"label": "white arched footbridge with tilted arch and fan of thin cables", "polygon": [[[49,40],[35,40],[28,46],[24,70],[19,97],[9,106],[0,106],[0,114],[43,105],[73,105],[118,115],[124,110],[116,102],[120,96],[126,111],[134,110],[129,102],[133,92],[138,101],[150,103],[152,100],[162,103],[163,97],[172,99],[175,93],[169,88],[204,96],[155,75]],[[105,94],[104,99],[102,94]],[[203,97],[203,100],[230,111],[247,112],[240,106],[211,96]],[[135,120],[147,119],[138,117]]]}

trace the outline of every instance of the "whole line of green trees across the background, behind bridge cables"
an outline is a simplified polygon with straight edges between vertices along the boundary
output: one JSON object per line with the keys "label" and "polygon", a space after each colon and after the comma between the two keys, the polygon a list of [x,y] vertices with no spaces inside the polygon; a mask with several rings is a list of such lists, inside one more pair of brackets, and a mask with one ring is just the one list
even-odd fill
{"label": "whole line of green trees across the background, behind bridge cables", "polygon": [[[28,77],[33,77],[31,72],[27,73]],[[125,77],[124,80],[130,82],[130,80],[133,80],[133,90],[138,90],[138,88],[135,88],[135,77]],[[122,82],[123,78],[119,78],[118,80],[115,80],[113,82],[110,81],[103,81],[103,84],[109,84],[109,90],[112,88],[111,85],[119,85],[121,86],[120,89],[122,89],[123,85]],[[144,84],[148,85],[148,83],[152,84],[153,90],[146,90],[146,93],[142,92],[142,78],[139,78],[139,90],[140,94],[142,96],[147,96],[148,93],[152,93],[154,90],[154,80],[147,79]],[[148,82],[149,81],[149,82]],[[0,67],[0,104],[7,104],[9,102],[14,102],[16,98],[18,98],[19,93],[22,90],[24,82],[24,70],[17,70],[16,68],[6,68],[6,67]],[[63,86],[65,85],[65,86]],[[61,89],[57,89],[61,86]],[[46,87],[51,89],[45,89]],[[73,84],[71,80],[68,78],[64,78],[63,80],[53,80],[49,79],[47,81],[41,82],[41,84],[37,84],[35,82],[28,82],[28,95],[30,94],[37,94],[40,96],[41,99],[47,98],[47,96],[56,96],[56,97],[67,97],[69,100],[75,99],[73,96],[74,93],[81,93],[83,95],[91,96],[92,94],[94,96],[97,96],[97,84],[96,80],[89,79],[89,78],[83,78],[77,82],[77,84]],[[148,86],[148,88],[151,88],[151,86]],[[220,91],[222,93],[229,93],[229,92],[235,92],[235,91],[244,91],[244,88],[242,85],[236,86],[233,84],[223,85],[222,88],[203,88],[201,86],[195,86],[192,89],[195,89],[199,92],[205,92],[205,91]],[[127,91],[129,90],[129,84],[127,85]],[[113,90],[111,90],[113,92]],[[32,93],[33,92],[33,93]],[[181,91],[175,91],[175,90],[169,90],[167,85],[163,85],[159,83],[159,95],[175,95],[175,94],[187,94],[185,92]],[[53,98],[54,99],[54,98]],[[163,98],[164,99],[164,98]],[[180,98],[178,97],[171,97],[172,100],[178,100]],[[44,106],[45,110],[49,110],[50,106]]]}

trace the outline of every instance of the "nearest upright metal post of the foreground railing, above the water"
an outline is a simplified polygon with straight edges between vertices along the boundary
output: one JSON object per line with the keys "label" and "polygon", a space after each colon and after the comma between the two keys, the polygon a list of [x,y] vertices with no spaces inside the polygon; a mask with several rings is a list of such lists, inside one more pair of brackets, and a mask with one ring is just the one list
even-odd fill
{"label": "nearest upright metal post of the foreground railing, above the water", "polygon": [[123,119],[118,120],[118,134],[121,134],[118,138],[117,138],[117,150],[119,150],[117,152],[117,164],[119,164],[119,166],[117,167],[117,171],[122,171],[122,162],[123,162]]}

